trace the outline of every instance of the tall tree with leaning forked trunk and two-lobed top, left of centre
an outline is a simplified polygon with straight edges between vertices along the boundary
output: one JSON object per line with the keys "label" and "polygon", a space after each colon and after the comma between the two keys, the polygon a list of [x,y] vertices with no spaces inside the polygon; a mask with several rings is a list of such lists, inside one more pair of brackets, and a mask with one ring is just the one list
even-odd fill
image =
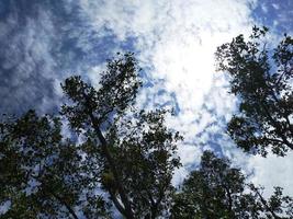
{"label": "tall tree with leaning forked trunk and two-lobed top, left of centre", "polygon": [[[111,60],[95,90],[80,77],[65,81],[71,104],[63,115],[84,138],[83,152],[116,209],[126,218],[157,218],[166,211],[171,178],[180,165],[178,132],[165,125],[166,111],[133,107],[140,81],[132,54]],[[89,173],[90,174],[90,173]]]}

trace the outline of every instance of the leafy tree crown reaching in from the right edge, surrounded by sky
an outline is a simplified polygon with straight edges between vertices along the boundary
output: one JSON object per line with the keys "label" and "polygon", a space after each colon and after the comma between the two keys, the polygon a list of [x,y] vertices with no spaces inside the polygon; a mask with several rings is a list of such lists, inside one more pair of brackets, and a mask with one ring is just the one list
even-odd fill
{"label": "leafy tree crown reaching in from the right edge, surrounded by sky", "polygon": [[264,42],[267,27],[252,28],[217,48],[218,70],[228,73],[230,93],[239,97],[239,113],[228,134],[245,151],[266,157],[293,150],[293,39],[284,38],[272,51]]}

